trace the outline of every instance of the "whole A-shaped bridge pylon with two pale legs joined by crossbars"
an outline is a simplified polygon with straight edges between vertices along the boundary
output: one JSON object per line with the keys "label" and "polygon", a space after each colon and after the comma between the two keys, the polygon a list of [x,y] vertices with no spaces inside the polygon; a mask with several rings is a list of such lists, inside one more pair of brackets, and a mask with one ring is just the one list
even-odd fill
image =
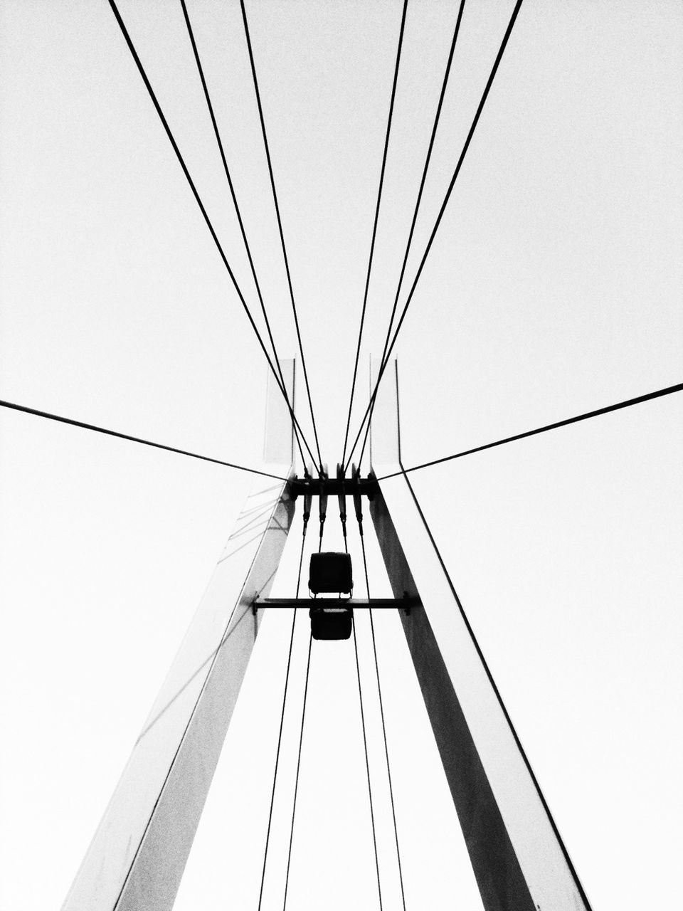
{"label": "whole A-shaped bridge pylon with two pale legs joined by crossbars", "polygon": [[[293,403],[295,363],[281,367]],[[368,498],[393,593],[343,603],[401,618],[485,911],[590,911],[403,473],[397,364],[385,373],[370,475],[330,478],[325,490],[295,474],[291,416],[270,379],[264,471],[281,480],[252,488],[63,911],[172,908],[263,612],[311,607],[310,599],[270,599],[297,500],[339,495],[342,483],[347,495]]]}

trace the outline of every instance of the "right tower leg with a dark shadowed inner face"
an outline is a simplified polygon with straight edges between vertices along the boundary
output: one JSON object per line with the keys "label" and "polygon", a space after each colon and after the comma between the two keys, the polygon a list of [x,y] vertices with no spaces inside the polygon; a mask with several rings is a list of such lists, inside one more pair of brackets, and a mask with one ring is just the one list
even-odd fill
{"label": "right tower leg with a dark shadowed inner face", "polygon": [[[398,374],[387,367],[372,426],[376,476],[403,471]],[[401,611],[443,771],[486,911],[589,911],[407,475],[380,482],[371,516]]]}

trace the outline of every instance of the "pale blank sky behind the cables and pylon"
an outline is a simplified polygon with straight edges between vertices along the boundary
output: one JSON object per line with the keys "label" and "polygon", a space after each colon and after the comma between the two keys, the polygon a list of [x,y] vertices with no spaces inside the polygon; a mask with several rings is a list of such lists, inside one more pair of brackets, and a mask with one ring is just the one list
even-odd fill
{"label": "pale blank sky behind the cables and pylon", "polygon": [[[120,8],[256,305],[179,4]],[[511,8],[465,7],[416,251]],[[189,10],[291,356],[239,5]],[[333,466],[401,4],[248,10]],[[258,466],[262,357],[107,3],[4,0],[0,11],[0,397]],[[435,0],[409,9],[363,365],[381,350],[455,13]],[[406,465],[680,382],[682,52],[673,0],[525,0],[397,345]],[[596,908],[671,907],[678,895],[681,407],[674,395],[413,476]],[[27,415],[3,412],[0,433],[0,896],[23,911],[66,895],[250,480]],[[296,526],[282,595],[293,594],[298,537]],[[376,546],[371,572],[381,595]],[[407,899],[476,907],[394,620],[379,647]],[[264,624],[178,907],[256,906],[287,625]],[[281,903],[305,623],[300,632],[264,908]],[[372,715],[362,630],[361,648]],[[291,907],[374,907],[352,650],[322,649]]]}

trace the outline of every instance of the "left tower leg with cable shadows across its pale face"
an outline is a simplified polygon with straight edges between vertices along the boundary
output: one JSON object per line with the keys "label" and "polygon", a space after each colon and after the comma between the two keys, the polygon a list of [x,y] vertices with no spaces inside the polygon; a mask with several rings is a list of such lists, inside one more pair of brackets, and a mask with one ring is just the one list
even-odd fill
{"label": "left tower leg with cable shadows across its pale face", "polygon": [[[294,362],[282,369],[293,402]],[[266,470],[288,477],[291,430],[278,396],[270,384]],[[258,633],[251,606],[270,592],[293,513],[286,483],[262,478],[252,490],[63,911],[173,906]]]}

